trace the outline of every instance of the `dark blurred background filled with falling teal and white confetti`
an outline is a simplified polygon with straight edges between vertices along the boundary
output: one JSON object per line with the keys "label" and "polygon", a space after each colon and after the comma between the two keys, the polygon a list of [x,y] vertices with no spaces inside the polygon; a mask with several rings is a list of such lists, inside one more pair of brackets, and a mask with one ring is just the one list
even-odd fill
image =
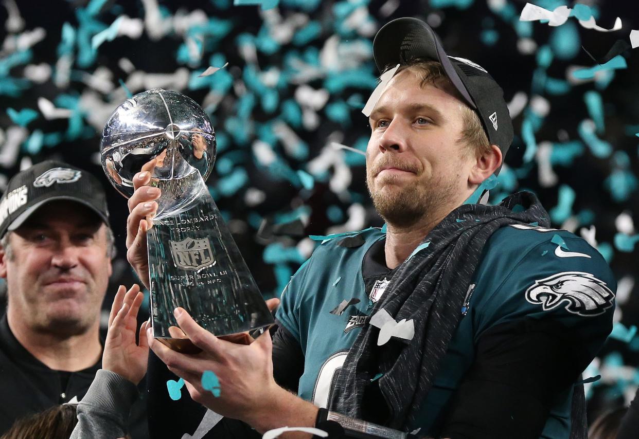
{"label": "dark blurred background filled with falling teal and white confetti", "polygon": [[[520,21],[518,0],[261,3],[5,1],[0,190],[20,168],[49,158],[102,179],[118,241],[109,308],[117,285],[135,276],[125,260],[126,200],[99,165],[102,126],[130,94],[180,91],[204,107],[216,131],[211,193],[263,294],[279,295],[314,247],[307,235],[382,225],[363,156],[330,144],[365,149],[361,108],[378,75],[374,33],[391,19],[419,17],[449,54],[491,72],[510,102],[516,136],[490,202],[534,191],[554,227],[588,237],[612,266],[616,324],[586,374],[602,375],[587,385],[589,417],[627,403],[639,384],[639,48],[629,38],[639,29],[636,2],[532,2],[573,8],[577,17],[556,27]],[[620,17],[622,27],[580,26],[590,15],[606,29]],[[574,70],[593,67],[574,79]],[[42,98],[66,110],[62,117],[47,117]]]}

